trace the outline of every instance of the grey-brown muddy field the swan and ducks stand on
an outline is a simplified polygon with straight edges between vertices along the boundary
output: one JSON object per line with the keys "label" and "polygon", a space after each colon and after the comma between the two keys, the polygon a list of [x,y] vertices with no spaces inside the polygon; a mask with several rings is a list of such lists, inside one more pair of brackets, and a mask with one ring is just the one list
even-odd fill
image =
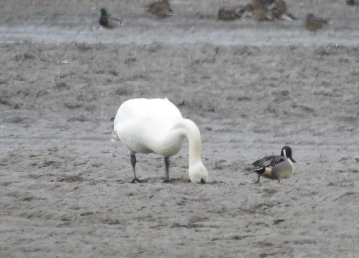
{"label": "grey-brown muddy field the swan and ducks stand on", "polygon": [[[218,22],[244,1],[0,3],[0,257],[358,257],[359,10],[288,0],[294,22]],[[99,9],[123,18],[100,29]],[[331,18],[315,36],[307,13]],[[111,142],[130,98],[199,126],[209,184]],[[293,149],[281,183],[246,169]],[[73,182],[65,182],[63,179]],[[70,177],[69,177],[70,176]]]}

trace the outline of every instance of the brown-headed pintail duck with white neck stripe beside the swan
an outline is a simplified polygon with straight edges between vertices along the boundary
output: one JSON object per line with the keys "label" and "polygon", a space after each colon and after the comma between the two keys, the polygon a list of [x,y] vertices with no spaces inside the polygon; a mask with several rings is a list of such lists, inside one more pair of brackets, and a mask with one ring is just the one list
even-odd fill
{"label": "brown-headed pintail duck with white neck stripe beside the swan", "polygon": [[292,149],[289,146],[284,146],[280,152],[280,156],[271,155],[261,158],[253,162],[254,168],[252,171],[258,174],[256,183],[260,183],[260,177],[264,176],[272,180],[290,178],[293,175],[293,163],[297,163],[292,158]]}

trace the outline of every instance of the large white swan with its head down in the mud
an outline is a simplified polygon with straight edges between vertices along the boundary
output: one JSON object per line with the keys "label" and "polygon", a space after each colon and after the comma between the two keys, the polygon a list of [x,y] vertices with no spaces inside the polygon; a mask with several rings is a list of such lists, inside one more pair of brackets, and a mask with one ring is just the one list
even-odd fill
{"label": "large white swan with its head down in the mud", "polygon": [[201,161],[201,136],[196,124],[183,119],[180,110],[167,98],[136,98],[122,103],[117,111],[113,135],[125,145],[131,155],[134,179],[136,153],[157,153],[164,156],[165,177],[169,181],[169,157],[182,148],[183,139],[189,143],[188,173],[192,183],[205,183],[208,172]]}

